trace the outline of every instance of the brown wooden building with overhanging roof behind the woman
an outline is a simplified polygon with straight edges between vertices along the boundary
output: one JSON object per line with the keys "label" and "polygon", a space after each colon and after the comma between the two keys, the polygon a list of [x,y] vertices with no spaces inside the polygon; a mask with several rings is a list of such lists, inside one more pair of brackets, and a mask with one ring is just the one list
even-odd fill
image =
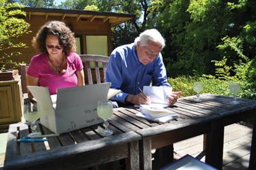
{"label": "brown wooden building with overhanging roof behind the woman", "polygon": [[31,46],[33,36],[49,20],[61,20],[75,33],[77,54],[109,56],[113,50],[111,27],[135,18],[134,14],[86,10],[31,7],[26,7],[23,10],[27,13],[26,22],[31,24],[31,33],[20,38],[20,41],[26,43],[28,48],[22,49],[22,54],[14,60],[26,63],[29,63],[32,56],[37,54]]}

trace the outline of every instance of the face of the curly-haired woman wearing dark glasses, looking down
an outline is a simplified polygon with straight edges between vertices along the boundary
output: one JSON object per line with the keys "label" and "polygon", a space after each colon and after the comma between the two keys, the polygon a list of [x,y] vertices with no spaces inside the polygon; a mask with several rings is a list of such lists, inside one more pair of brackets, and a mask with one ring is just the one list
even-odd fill
{"label": "face of the curly-haired woman wearing dark glasses, looking down", "polygon": [[59,43],[58,36],[47,35],[45,40],[45,46],[49,56],[62,56],[63,47]]}

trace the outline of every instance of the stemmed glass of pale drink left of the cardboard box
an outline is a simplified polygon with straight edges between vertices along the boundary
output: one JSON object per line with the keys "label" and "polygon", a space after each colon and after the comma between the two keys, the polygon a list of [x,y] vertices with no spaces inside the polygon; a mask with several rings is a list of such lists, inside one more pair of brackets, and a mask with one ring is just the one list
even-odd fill
{"label": "stemmed glass of pale drink left of the cardboard box", "polygon": [[40,111],[37,107],[37,104],[33,104],[31,102],[24,103],[24,118],[26,121],[31,123],[31,133],[28,134],[28,137],[32,137],[35,135],[42,135],[40,132],[36,132],[36,124],[35,121],[40,118]]}

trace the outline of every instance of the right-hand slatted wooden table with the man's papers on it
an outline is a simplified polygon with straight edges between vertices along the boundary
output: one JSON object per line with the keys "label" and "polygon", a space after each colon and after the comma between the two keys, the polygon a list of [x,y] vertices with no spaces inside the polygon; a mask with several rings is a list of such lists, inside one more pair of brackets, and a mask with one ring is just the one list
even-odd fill
{"label": "right-hand slatted wooden table with the man's papers on it", "polygon": [[[195,96],[180,98],[173,107],[168,107],[179,114],[177,120],[169,123],[156,123],[135,116],[139,109],[119,108],[111,118],[111,124],[119,123],[141,135],[140,169],[152,169],[152,149],[161,148],[154,156],[159,161],[158,167],[173,160],[173,143],[204,134],[205,162],[222,169],[224,127],[232,123],[256,118],[256,101],[238,98],[237,105],[231,105],[232,97],[204,94],[202,102],[194,102]],[[253,125],[252,147],[249,169],[256,169],[256,130]],[[239,135],[239,134],[237,134]],[[254,160],[254,161],[253,161]]]}

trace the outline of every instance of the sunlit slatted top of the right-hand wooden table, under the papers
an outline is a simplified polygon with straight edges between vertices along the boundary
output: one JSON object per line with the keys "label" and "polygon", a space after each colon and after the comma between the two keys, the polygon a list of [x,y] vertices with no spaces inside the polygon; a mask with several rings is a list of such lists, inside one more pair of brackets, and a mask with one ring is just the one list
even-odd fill
{"label": "sunlit slatted top of the right-hand wooden table, under the papers", "polygon": [[[169,123],[156,123],[139,118],[135,115],[137,112],[140,112],[139,108],[118,108],[115,110],[109,123],[122,131],[127,132],[132,130],[146,137],[148,135],[161,134],[189,125],[196,125],[204,121],[212,121],[216,118],[222,118],[227,115],[230,116],[230,114],[256,109],[255,100],[237,98],[240,103],[231,105],[232,97],[204,94],[200,95],[200,98],[202,102],[199,103],[194,101],[195,96],[179,98],[179,101],[175,103],[175,105],[167,108],[179,114],[177,120],[170,121]],[[164,131],[157,130],[160,127],[166,129],[163,129]]]}

